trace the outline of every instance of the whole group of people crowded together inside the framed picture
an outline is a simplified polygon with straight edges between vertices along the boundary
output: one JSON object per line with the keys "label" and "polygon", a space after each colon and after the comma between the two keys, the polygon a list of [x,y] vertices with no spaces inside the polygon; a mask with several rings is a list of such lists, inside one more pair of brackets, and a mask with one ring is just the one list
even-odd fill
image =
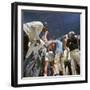
{"label": "whole group of people crowded together inside the framed picture", "polygon": [[80,35],[70,31],[49,39],[48,27],[40,21],[25,23],[23,30],[29,38],[24,77],[80,74]]}

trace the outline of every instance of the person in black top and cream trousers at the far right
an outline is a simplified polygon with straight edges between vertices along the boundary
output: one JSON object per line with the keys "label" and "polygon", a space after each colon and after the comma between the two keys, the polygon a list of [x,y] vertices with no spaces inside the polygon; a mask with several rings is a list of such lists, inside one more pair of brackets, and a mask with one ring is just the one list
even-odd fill
{"label": "person in black top and cream trousers at the far right", "polygon": [[68,33],[67,47],[70,49],[70,56],[72,59],[72,74],[80,74],[80,52],[78,45],[78,38],[75,32],[71,31]]}

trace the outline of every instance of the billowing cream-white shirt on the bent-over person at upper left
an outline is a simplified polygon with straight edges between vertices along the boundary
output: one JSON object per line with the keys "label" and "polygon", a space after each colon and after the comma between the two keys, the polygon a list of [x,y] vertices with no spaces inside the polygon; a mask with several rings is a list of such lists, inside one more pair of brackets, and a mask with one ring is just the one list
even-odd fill
{"label": "billowing cream-white shirt on the bent-over person at upper left", "polygon": [[40,33],[43,29],[44,25],[40,21],[32,21],[23,24],[23,30],[28,35],[30,42],[35,40],[40,40]]}

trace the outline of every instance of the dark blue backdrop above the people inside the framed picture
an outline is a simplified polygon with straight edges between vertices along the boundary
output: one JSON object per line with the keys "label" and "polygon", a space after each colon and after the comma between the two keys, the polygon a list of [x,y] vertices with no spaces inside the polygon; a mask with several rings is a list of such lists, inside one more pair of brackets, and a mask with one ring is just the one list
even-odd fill
{"label": "dark blue backdrop above the people inside the framed picture", "polygon": [[47,22],[49,35],[56,39],[69,31],[80,34],[80,13],[22,10],[22,23]]}

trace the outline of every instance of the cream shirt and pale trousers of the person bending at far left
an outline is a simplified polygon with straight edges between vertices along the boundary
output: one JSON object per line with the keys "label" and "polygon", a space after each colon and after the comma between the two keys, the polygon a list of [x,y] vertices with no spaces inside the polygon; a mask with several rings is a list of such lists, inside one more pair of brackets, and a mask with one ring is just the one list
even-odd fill
{"label": "cream shirt and pale trousers of the person bending at far left", "polygon": [[37,50],[41,48],[42,45],[44,44],[44,42],[39,37],[43,29],[44,29],[44,25],[40,21],[32,21],[23,24],[23,30],[25,31],[25,33],[29,38],[29,43],[28,43],[29,49],[27,51],[26,58],[28,58],[29,55],[31,55],[32,51],[37,52]]}

